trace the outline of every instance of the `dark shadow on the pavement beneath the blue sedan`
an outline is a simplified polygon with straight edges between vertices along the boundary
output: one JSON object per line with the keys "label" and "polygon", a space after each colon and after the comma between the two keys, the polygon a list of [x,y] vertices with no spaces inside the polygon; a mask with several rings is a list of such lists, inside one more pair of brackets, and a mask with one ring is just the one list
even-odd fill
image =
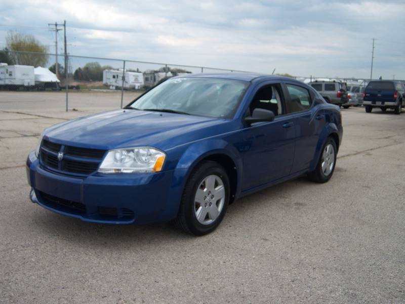
{"label": "dark shadow on the pavement beneath the blue sedan", "polygon": [[[249,209],[260,209],[263,205],[283,201],[291,187],[308,184],[314,183],[305,177],[299,177],[243,197],[228,206],[225,219],[228,223],[232,223],[233,220],[236,220],[235,218],[244,216],[246,212],[249,212]],[[275,200],[269,200],[269,198],[275,198]],[[42,208],[40,211],[35,212],[33,220],[35,225],[33,227],[31,222],[31,229],[40,230],[49,239],[58,238],[83,246],[90,245],[91,247],[110,248],[112,250],[116,247],[131,249],[133,246],[142,248],[151,243],[184,244],[184,242],[195,242],[200,239],[182,232],[170,222],[143,225],[97,224],[56,214]],[[217,229],[203,238],[215,240],[215,235],[221,233],[220,230]]]}

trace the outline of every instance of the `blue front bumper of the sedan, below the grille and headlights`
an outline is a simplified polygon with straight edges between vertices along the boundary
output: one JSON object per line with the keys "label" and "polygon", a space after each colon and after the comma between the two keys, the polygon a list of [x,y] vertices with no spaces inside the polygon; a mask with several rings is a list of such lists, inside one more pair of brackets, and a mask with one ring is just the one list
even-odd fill
{"label": "blue front bumper of the sedan, below the grille and headlights", "polygon": [[176,217],[186,169],[145,174],[92,174],[85,178],[48,171],[32,152],[27,159],[30,199],[59,214],[98,223],[148,223]]}

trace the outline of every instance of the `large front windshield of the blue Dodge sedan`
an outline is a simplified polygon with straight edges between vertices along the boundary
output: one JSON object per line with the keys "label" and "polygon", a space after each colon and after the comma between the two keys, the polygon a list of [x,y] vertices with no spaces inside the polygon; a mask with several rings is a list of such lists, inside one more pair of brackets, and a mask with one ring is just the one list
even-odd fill
{"label": "large front windshield of the blue Dodge sedan", "polygon": [[153,88],[128,108],[231,118],[248,82],[215,78],[173,78]]}

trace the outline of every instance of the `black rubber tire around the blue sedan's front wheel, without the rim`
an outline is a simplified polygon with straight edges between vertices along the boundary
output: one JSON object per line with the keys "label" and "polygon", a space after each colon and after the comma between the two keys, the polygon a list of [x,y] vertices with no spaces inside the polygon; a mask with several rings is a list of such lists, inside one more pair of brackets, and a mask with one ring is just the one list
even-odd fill
{"label": "black rubber tire around the blue sedan's front wheel, without the rim", "polygon": [[[210,224],[201,224],[195,216],[194,198],[198,186],[209,175],[217,175],[222,179],[225,189],[224,205],[218,217]],[[180,209],[175,224],[183,231],[195,236],[203,236],[213,232],[224,218],[226,209],[229,204],[230,183],[228,174],[225,169],[213,161],[204,161],[190,174],[186,185],[184,186],[183,196],[181,198]]]}

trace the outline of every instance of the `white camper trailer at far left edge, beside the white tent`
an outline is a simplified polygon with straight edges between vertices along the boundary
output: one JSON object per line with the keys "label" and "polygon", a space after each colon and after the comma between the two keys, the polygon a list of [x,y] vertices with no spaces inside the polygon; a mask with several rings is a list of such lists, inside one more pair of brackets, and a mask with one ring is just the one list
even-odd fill
{"label": "white camper trailer at far left edge, beside the white tent", "polygon": [[30,65],[1,65],[0,86],[10,90],[34,87],[34,67]]}

